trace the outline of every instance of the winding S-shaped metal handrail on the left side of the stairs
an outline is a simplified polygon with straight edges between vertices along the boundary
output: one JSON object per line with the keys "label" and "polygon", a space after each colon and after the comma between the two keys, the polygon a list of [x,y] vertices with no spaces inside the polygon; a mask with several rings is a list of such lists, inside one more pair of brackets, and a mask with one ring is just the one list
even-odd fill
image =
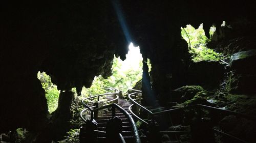
{"label": "winding S-shaped metal handrail on the left side of the stairs", "polygon": [[86,107],[86,109],[83,109],[83,110],[80,112],[80,115],[79,115],[80,118],[82,119],[82,121],[86,122],[86,120],[85,120],[85,119],[83,118],[83,116],[82,116],[82,114],[83,114],[84,111],[86,111],[86,110],[91,111],[91,120],[93,120],[94,111],[96,111],[95,109],[93,109],[93,108],[96,107],[96,106],[91,106],[91,107],[90,107],[89,105],[87,105],[86,103],[84,103],[85,100],[98,97],[98,101],[99,101],[99,97],[100,97],[100,96],[106,96],[106,95],[112,95],[112,94],[113,94],[113,95],[116,95],[116,98],[113,99],[113,100],[110,100],[110,101],[106,101],[106,102],[104,102],[103,104],[107,104],[107,103],[114,102],[114,101],[118,100],[118,98],[119,98],[119,96],[118,96],[119,90],[116,89],[116,88],[110,88],[110,87],[108,87],[108,88],[109,88],[109,89],[114,89],[115,92],[114,92],[114,93],[104,93],[104,94],[98,94],[98,95],[95,95],[95,96],[90,96],[90,97],[87,97],[87,98],[85,98],[85,99],[83,99],[83,100],[81,101],[82,104]]}

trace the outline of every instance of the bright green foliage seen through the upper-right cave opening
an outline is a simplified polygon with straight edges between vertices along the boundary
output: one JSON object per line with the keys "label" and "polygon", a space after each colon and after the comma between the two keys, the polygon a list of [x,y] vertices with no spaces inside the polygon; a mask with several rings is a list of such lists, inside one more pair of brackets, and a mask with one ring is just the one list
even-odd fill
{"label": "bright green foliage seen through the upper-right cave opening", "polygon": [[[215,30],[215,27],[210,28],[210,37],[212,37]],[[206,43],[209,40],[205,36],[203,24],[201,24],[198,29],[195,29],[191,25],[187,25],[185,28],[181,28],[181,35],[191,47],[189,52],[191,53],[191,58],[194,62],[219,61],[222,59],[222,53],[217,53],[206,47]]]}

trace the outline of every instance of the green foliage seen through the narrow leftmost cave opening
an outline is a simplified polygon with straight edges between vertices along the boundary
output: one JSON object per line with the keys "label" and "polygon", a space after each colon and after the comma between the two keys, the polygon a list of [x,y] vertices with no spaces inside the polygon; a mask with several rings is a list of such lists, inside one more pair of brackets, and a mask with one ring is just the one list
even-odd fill
{"label": "green foliage seen through the narrow leftmost cave opening", "polygon": [[48,111],[52,113],[58,107],[59,91],[57,86],[52,83],[51,77],[45,72],[38,72],[37,78],[41,81],[42,88],[46,91],[46,99],[48,104]]}

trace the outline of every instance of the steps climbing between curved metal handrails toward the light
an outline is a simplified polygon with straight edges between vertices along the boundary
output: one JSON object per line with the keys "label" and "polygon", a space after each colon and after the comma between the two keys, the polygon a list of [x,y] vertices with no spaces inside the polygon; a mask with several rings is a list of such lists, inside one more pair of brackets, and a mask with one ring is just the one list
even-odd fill
{"label": "steps climbing between curved metal handrails toward the light", "polygon": [[[113,96],[106,96],[106,99],[112,100]],[[126,101],[125,99],[118,99],[118,104],[124,108],[127,112],[129,111],[129,106],[132,104],[130,101]],[[122,136],[125,139],[126,143],[133,142],[133,133],[132,133],[132,126],[129,122],[129,120],[124,116],[122,112],[119,110],[116,110],[116,117],[120,118],[122,120]],[[106,111],[103,116],[98,117],[96,122],[98,123],[98,130],[105,131],[106,130],[106,123],[112,118],[112,111]],[[98,142],[104,142],[105,135],[99,135],[97,137]]]}

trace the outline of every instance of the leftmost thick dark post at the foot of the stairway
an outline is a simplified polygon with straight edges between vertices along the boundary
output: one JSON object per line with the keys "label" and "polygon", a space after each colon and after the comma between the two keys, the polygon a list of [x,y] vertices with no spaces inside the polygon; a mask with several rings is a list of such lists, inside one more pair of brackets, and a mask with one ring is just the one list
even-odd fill
{"label": "leftmost thick dark post at the foot of the stairway", "polygon": [[80,143],[86,143],[86,142],[97,142],[97,134],[94,132],[94,130],[97,130],[97,122],[95,120],[87,120],[86,124],[83,124],[80,128],[80,134],[79,134],[79,142]]}

